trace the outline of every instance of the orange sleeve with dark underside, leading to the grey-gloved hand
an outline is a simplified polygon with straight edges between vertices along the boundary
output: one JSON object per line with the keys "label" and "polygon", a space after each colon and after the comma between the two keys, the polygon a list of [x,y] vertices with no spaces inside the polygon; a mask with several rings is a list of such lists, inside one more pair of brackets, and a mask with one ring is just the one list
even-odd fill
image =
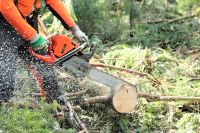
{"label": "orange sleeve with dark underside, leading to the grey-gloved hand", "polygon": [[61,0],[45,0],[51,12],[62,22],[66,29],[71,28],[75,22]]}

